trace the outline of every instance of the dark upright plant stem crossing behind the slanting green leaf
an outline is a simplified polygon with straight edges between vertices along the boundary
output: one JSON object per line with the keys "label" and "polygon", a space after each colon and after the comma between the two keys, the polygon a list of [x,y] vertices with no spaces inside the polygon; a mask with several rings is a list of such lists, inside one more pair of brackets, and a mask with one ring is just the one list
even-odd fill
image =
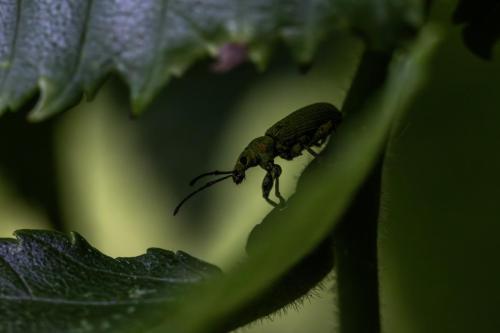
{"label": "dark upright plant stem crossing behind the slanting green leaf", "polygon": [[[364,52],[344,102],[346,117],[373,100],[387,77],[391,55]],[[358,190],[334,232],[338,316],[341,333],[380,332],[377,220],[382,163]]]}

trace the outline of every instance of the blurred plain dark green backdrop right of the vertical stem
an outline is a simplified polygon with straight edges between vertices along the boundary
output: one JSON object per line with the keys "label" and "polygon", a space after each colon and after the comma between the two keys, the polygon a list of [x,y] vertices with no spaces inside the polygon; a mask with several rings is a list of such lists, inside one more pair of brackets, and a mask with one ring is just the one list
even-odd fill
{"label": "blurred plain dark green backdrop right of the vertical stem", "polygon": [[378,242],[388,333],[500,328],[500,59],[477,58],[460,37],[448,29],[387,150]]}

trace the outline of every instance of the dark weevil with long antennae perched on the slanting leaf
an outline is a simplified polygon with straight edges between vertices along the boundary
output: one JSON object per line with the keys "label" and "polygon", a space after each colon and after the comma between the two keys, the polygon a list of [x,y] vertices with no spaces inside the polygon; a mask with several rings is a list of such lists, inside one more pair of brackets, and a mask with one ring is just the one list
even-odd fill
{"label": "dark weevil with long antennae perched on the slanting leaf", "polygon": [[[207,187],[228,178],[233,178],[235,184],[240,184],[245,179],[246,170],[257,165],[267,172],[262,182],[264,199],[274,207],[284,205],[285,199],[279,190],[281,167],[274,163],[274,158],[279,156],[292,160],[302,155],[304,150],[316,157],[317,153],[311,147],[320,147],[325,143],[341,121],[342,113],[329,103],[315,103],[292,112],[269,128],[264,136],[252,140],[238,157],[232,171],[216,170],[194,178],[190,185],[205,176],[226,175],[206,183],[185,197],[175,208],[174,215],[187,200]],[[273,185],[279,204],[269,199]]]}

